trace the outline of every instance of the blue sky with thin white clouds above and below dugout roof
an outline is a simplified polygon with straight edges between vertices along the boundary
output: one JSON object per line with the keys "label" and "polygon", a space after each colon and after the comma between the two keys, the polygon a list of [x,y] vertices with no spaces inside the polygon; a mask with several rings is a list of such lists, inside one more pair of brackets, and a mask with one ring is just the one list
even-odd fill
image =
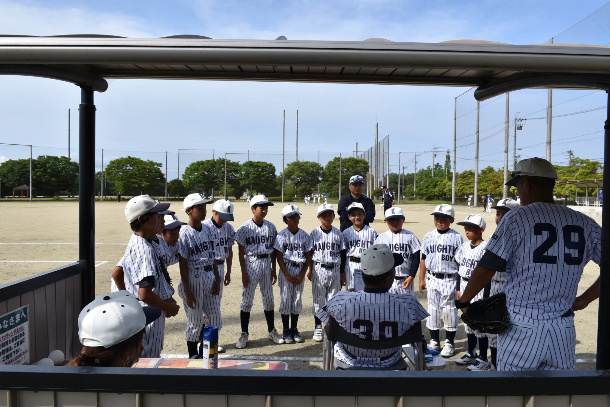
{"label": "blue sky with thin white clouds above and below dugout roof", "polygon": [[[572,27],[605,1],[6,1],[0,0],[0,31],[6,34],[54,35],[96,33],[126,37],[200,34],[212,38],[364,40],[437,42],[476,38],[506,43],[544,43]],[[610,43],[608,9],[556,38],[556,42]],[[67,110],[73,113],[73,157],[77,156],[77,107],[74,85],[31,77],[0,76],[0,142],[33,144],[34,155],[65,154]],[[285,84],[270,82],[127,81],[117,80],[96,94],[97,146],[105,162],[127,154],[165,162],[169,178],[178,170],[178,149],[247,149],[281,151],[282,110],[286,110],[287,161],[295,149],[295,110],[299,109],[300,159],[321,161],[342,153],[351,156],[390,135],[390,164],[398,168],[398,151],[423,151],[436,143],[453,145],[453,98],[465,88],[389,85]],[[571,99],[580,99],[570,101]],[[458,170],[473,168],[476,107],[472,92],[458,105]],[[603,92],[556,91],[553,114],[604,106]],[[510,117],[516,111],[544,117],[547,92],[511,94]],[[501,130],[504,97],[481,104],[481,138]],[[32,114],[32,113],[35,113]],[[553,121],[553,161],[565,162],[564,151],[600,158],[605,110]],[[500,127],[498,127],[500,126]],[[489,131],[484,129],[491,128]],[[597,133],[596,133],[597,132]],[[590,135],[584,135],[589,134]],[[512,131],[511,131],[512,134]],[[580,136],[580,137],[575,137]],[[575,137],[570,139],[570,137]],[[522,157],[545,156],[545,120],[527,121],[517,137]],[[539,145],[542,143],[542,145]],[[503,165],[503,132],[481,142],[481,167]],[[0,146],[0,159],[24,157],[29,148]],[[98,154],[101,166],[101,151]],[[181,153],[181,170],[210,154]],[[512,139],[511,139],[512,155]],[[260,155],[281,166],[278,156]],[[243,156],[229,156],[243,160]],[[253,159],[253,156],[251,156]],[[413,154],[402,154],[412,171]],[[439,157],[437,159],[442,159]],[[431,164],[431,154],[418,158]],[[418,165],[419,166],[419,165]]]}

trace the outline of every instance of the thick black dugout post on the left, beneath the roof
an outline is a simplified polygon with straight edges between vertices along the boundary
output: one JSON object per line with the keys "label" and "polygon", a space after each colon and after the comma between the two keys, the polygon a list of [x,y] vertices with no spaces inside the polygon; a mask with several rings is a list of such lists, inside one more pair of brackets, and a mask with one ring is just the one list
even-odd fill
{"label": "thick black dugout post on the left, beneath the roof", "polygon": [[82,304],[95,298],[95,104],[93,88],[81,87],[79,106],[79,262]]}

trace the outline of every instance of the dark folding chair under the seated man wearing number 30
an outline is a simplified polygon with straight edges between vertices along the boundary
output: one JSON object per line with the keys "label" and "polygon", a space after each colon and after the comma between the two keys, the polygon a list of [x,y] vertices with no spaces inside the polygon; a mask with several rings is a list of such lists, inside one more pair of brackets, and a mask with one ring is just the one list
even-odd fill
{"label": "dark folding chair under the seated man wearing number 30", "polygon": [[346,365],[334,357],[335,342],[341,342],[345,345],[354,346],[357,348],[383,350],[388,348],[400,347],[411,344],[415,351],[413,363],[415,370],[423,370],[423,342],[422,342],[422,323],[418,322],[411,326],[401,336],[389,339],[368,340],[352,334],[342,328],[339,323],[332,317],[328,321],[327,330],[325,330],[325,349],[324,349],[324,370],[409,370],[407,362],[400,358],[398,362],[389,367],[355,367]]}

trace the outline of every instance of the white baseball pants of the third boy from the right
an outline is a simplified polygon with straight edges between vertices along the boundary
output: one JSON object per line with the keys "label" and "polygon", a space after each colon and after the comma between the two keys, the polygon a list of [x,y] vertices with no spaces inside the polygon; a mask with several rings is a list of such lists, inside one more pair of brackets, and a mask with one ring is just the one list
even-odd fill
{"label": "white baseball pants of the third boy from the right", "polygon": [[456,285],[458,274],[437,278],[428,272],[426,287],[428,293],[428,314],[426,326],[429,330],[440,330],[441,320],[445,331],[458,330],[458,309],[456,309]]}

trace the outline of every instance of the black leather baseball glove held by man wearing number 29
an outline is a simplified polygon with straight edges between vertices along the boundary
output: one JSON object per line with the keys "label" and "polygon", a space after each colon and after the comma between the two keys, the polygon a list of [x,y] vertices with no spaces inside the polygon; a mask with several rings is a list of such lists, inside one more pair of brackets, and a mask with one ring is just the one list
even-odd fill
{"label": "black leather baseball glove held by man wearing number 29", "polygon": [[511,319],[506,308],[506,294],[492,295],[475,301],[468,306],[462,321],[473,330],[487,334],[499,334],[511,327]]}

